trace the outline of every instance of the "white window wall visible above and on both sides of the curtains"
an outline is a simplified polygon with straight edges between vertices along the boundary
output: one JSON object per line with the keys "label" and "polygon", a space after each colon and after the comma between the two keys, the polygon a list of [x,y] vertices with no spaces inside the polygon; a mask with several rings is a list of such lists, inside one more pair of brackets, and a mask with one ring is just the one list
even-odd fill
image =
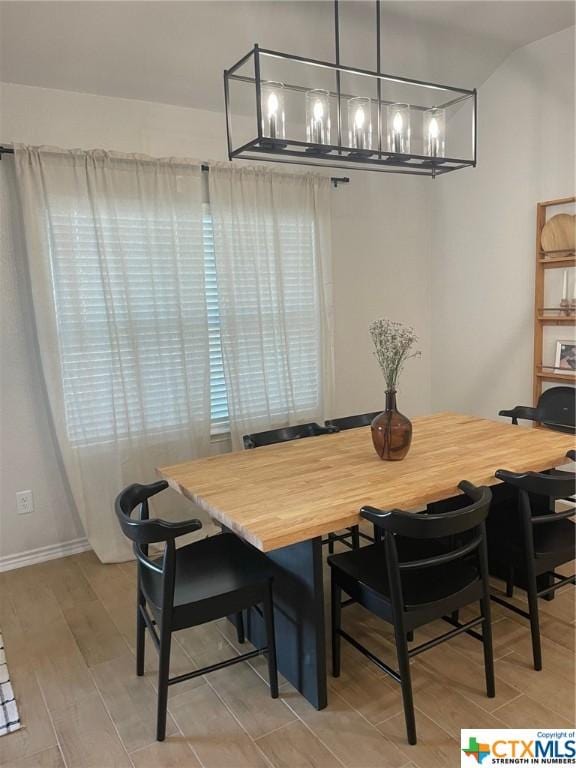
{"label": "white window wall visible above and on both sides of the curtains", "polygon": [[[225,157],[224,119],[216,112],[8,84],[0,94],[0,142],[202,160]],[[334,190],[332,198],[334,415],[383,405],[384,386],[367,331],[368,323],[380,316],[412,323],[422,337],[423,357],[409,363],[399,403],[409,415],[424,413],[431,407],[431,182],[349,175],[351,183]],[[10,195],[5,183],[3,191]],[[29,309],[22,306],[16,286],[21,260],[18,244],[2,244],[0,557],[81,535],[54,459],[34,348],[24,333]],[[28,488],[34,491],[36,512],[18,516],[15,492]]]}

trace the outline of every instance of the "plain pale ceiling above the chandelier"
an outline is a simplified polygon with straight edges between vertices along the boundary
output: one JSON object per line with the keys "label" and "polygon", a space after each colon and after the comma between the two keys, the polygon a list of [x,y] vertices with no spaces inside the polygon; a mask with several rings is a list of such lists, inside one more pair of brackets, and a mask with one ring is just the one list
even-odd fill
{"label": "plain pale ceiling above the chandelier", "polygon": [[[341,61],[375,69],[373,2],[341,2]],[[382,3],[382,69],[479,86],[516,48],[574,24],[572,2]],[[222,71],[257,42],[333,60],[326,0],[0,2],[0,79],[221,110]]]}

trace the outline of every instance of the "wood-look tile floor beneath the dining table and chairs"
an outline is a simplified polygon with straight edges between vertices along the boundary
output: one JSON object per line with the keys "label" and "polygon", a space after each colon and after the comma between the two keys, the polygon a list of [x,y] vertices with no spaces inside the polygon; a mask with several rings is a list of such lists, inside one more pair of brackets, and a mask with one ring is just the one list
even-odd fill
{"label": "wood-look tile floor beneath the dining table and chairs", "polygon": [[[567,569],[569,572],[569,569]],[[326,574],[327,577],[327,574]],[[532,669],[520,617],[493,605],[495,699],[481,646],[467,636],[412,663],[418,744],[408,746],[399,687],[343,643],[342,675],[317,712],[285,680],[273,701],[262,657],[170,689],[167,739],[154,740],[156,652],[134,662],[133,563],[94,554],[0,574],[0,626],[22,730],[0,738],[11,768],[451,768],[460,728],[574,722],[574,592],[540,602],[544,671]],[[517,593],[521,600],[523,593]],[[362,609],[345,626],[395,665],[391,628]],[[446,625],[417,633],[417,641]],[[238,653],[226,621],[178,633],[172,674]]]}

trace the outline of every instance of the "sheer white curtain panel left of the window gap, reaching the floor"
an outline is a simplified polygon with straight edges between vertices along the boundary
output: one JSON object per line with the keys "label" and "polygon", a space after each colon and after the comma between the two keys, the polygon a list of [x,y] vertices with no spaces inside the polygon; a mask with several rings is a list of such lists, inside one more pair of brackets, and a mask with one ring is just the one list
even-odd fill
{"label": "sheer white curtain panel left of the window gap, reaching the floor", "polygon": [[200,166],[26,147],[15,162],[62,459],[93,549],[123,560],[118,491],[209,450]]}

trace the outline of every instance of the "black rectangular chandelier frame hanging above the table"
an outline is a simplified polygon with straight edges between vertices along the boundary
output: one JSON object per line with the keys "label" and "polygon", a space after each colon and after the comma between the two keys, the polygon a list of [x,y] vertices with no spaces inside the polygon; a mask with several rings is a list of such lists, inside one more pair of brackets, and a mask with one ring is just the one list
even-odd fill
{"label": "black rectangular chandelier frame hanging above the table", "polygon": [[[478,145],[478,94],[474,88],[468,90],[451,85],[429,82],[425,80],[415,80],[412,78],[401,77],[398,75],[388,75],[380,71],[380,2],[376,0],[376,36],[377,36],[377,71],[349,67],[340,63],[340,44],[339,44],[339,21],[338,21],[338,0],[334,2],[335,7],[335,48],[336,63],[320,61],[318,59],[297,56],[295,54],[283,53],[281,51],[262,48],[258,44],[239,59],[232,67],[224,71],[224,102],[226,113],[226,138],[228,145],[228,158],[252,161],[269,161],[275,163],[290,163],[320,166],[326,168],[347,168],[351,170],[370,170],[384,173],[400,173],[417,176],[431,176],[435,178],[451,171],[457,171],[462,168],[476,167],[477,145]],[[317,67],[320,69],[331,70],[335,73],[336,89],[328,91],[330,97],[336,102],[336,144],[314,144],[307,141],[297,141],[295,139],[283,138],[281,141],[270,139],[263,135],[262,130],[262,78],[261,61],[262,58],[284,59],[291,62]],[[237,74],[238,70],[253,60],[252,75]],[[352,94],[342,92],[341,74],[349,74],[372,79],[376,84],[376,99],[370,99],[376,103],[376,147],[369,151],[358,151],[352,147],[343,144],[342,136],[342,100],[348,99]],[[231,82],[248,83],[254,86],[256,96],[256,136],[240,146],[235,147],[232,137],[232,115],[230,108],[230,84]],[[265,82],[265,81],[264,81]],[[425,89],[432,89],[443,92],[448,96],[448,100],[438,103],[435,107],[446,109],[460,102],[472,101],[472,121],[471,121],[471,146],[472,157],[469,159],[455,157],[431,157],[420,154],[402,154],[392,152],[384,148],[383,141],[383,120],[382,107],[394,104],[391,101],[385,101],[381,98],[381,89],[383,83],[400,83],[410,86],[417,86]],[[305,93],[310,90],[301,85],[291,85],[283,82],[282,87],[286,91]],[[426,111],[430,107],[410,104],[410,109],[414,111]]]}

